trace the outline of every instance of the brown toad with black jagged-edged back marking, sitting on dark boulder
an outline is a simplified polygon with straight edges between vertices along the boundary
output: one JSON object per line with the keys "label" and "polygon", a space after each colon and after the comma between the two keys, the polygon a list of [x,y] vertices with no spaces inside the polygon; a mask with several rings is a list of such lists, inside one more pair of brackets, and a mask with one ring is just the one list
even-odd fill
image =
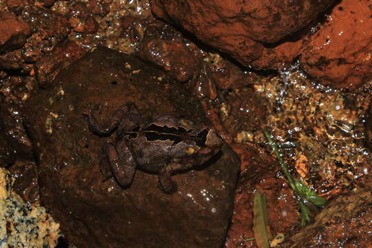
{"label": "brown toad with black jagged-edged back marking, sitting on dark boulder", "polygon": [[116,130],[116,143],[103,145],[101,170],[108,172],[108,161],[112,176],[122,187],[130,185],[138,167],[157,174],[163,192],[172,193],[176,189],[172,174],[205,163],[223,144],[207,125],[169,115],[144,118],[133,104],[119,108],[108,127],[101,127],[91,113],[85,115],[90,130],[99,136]]}

